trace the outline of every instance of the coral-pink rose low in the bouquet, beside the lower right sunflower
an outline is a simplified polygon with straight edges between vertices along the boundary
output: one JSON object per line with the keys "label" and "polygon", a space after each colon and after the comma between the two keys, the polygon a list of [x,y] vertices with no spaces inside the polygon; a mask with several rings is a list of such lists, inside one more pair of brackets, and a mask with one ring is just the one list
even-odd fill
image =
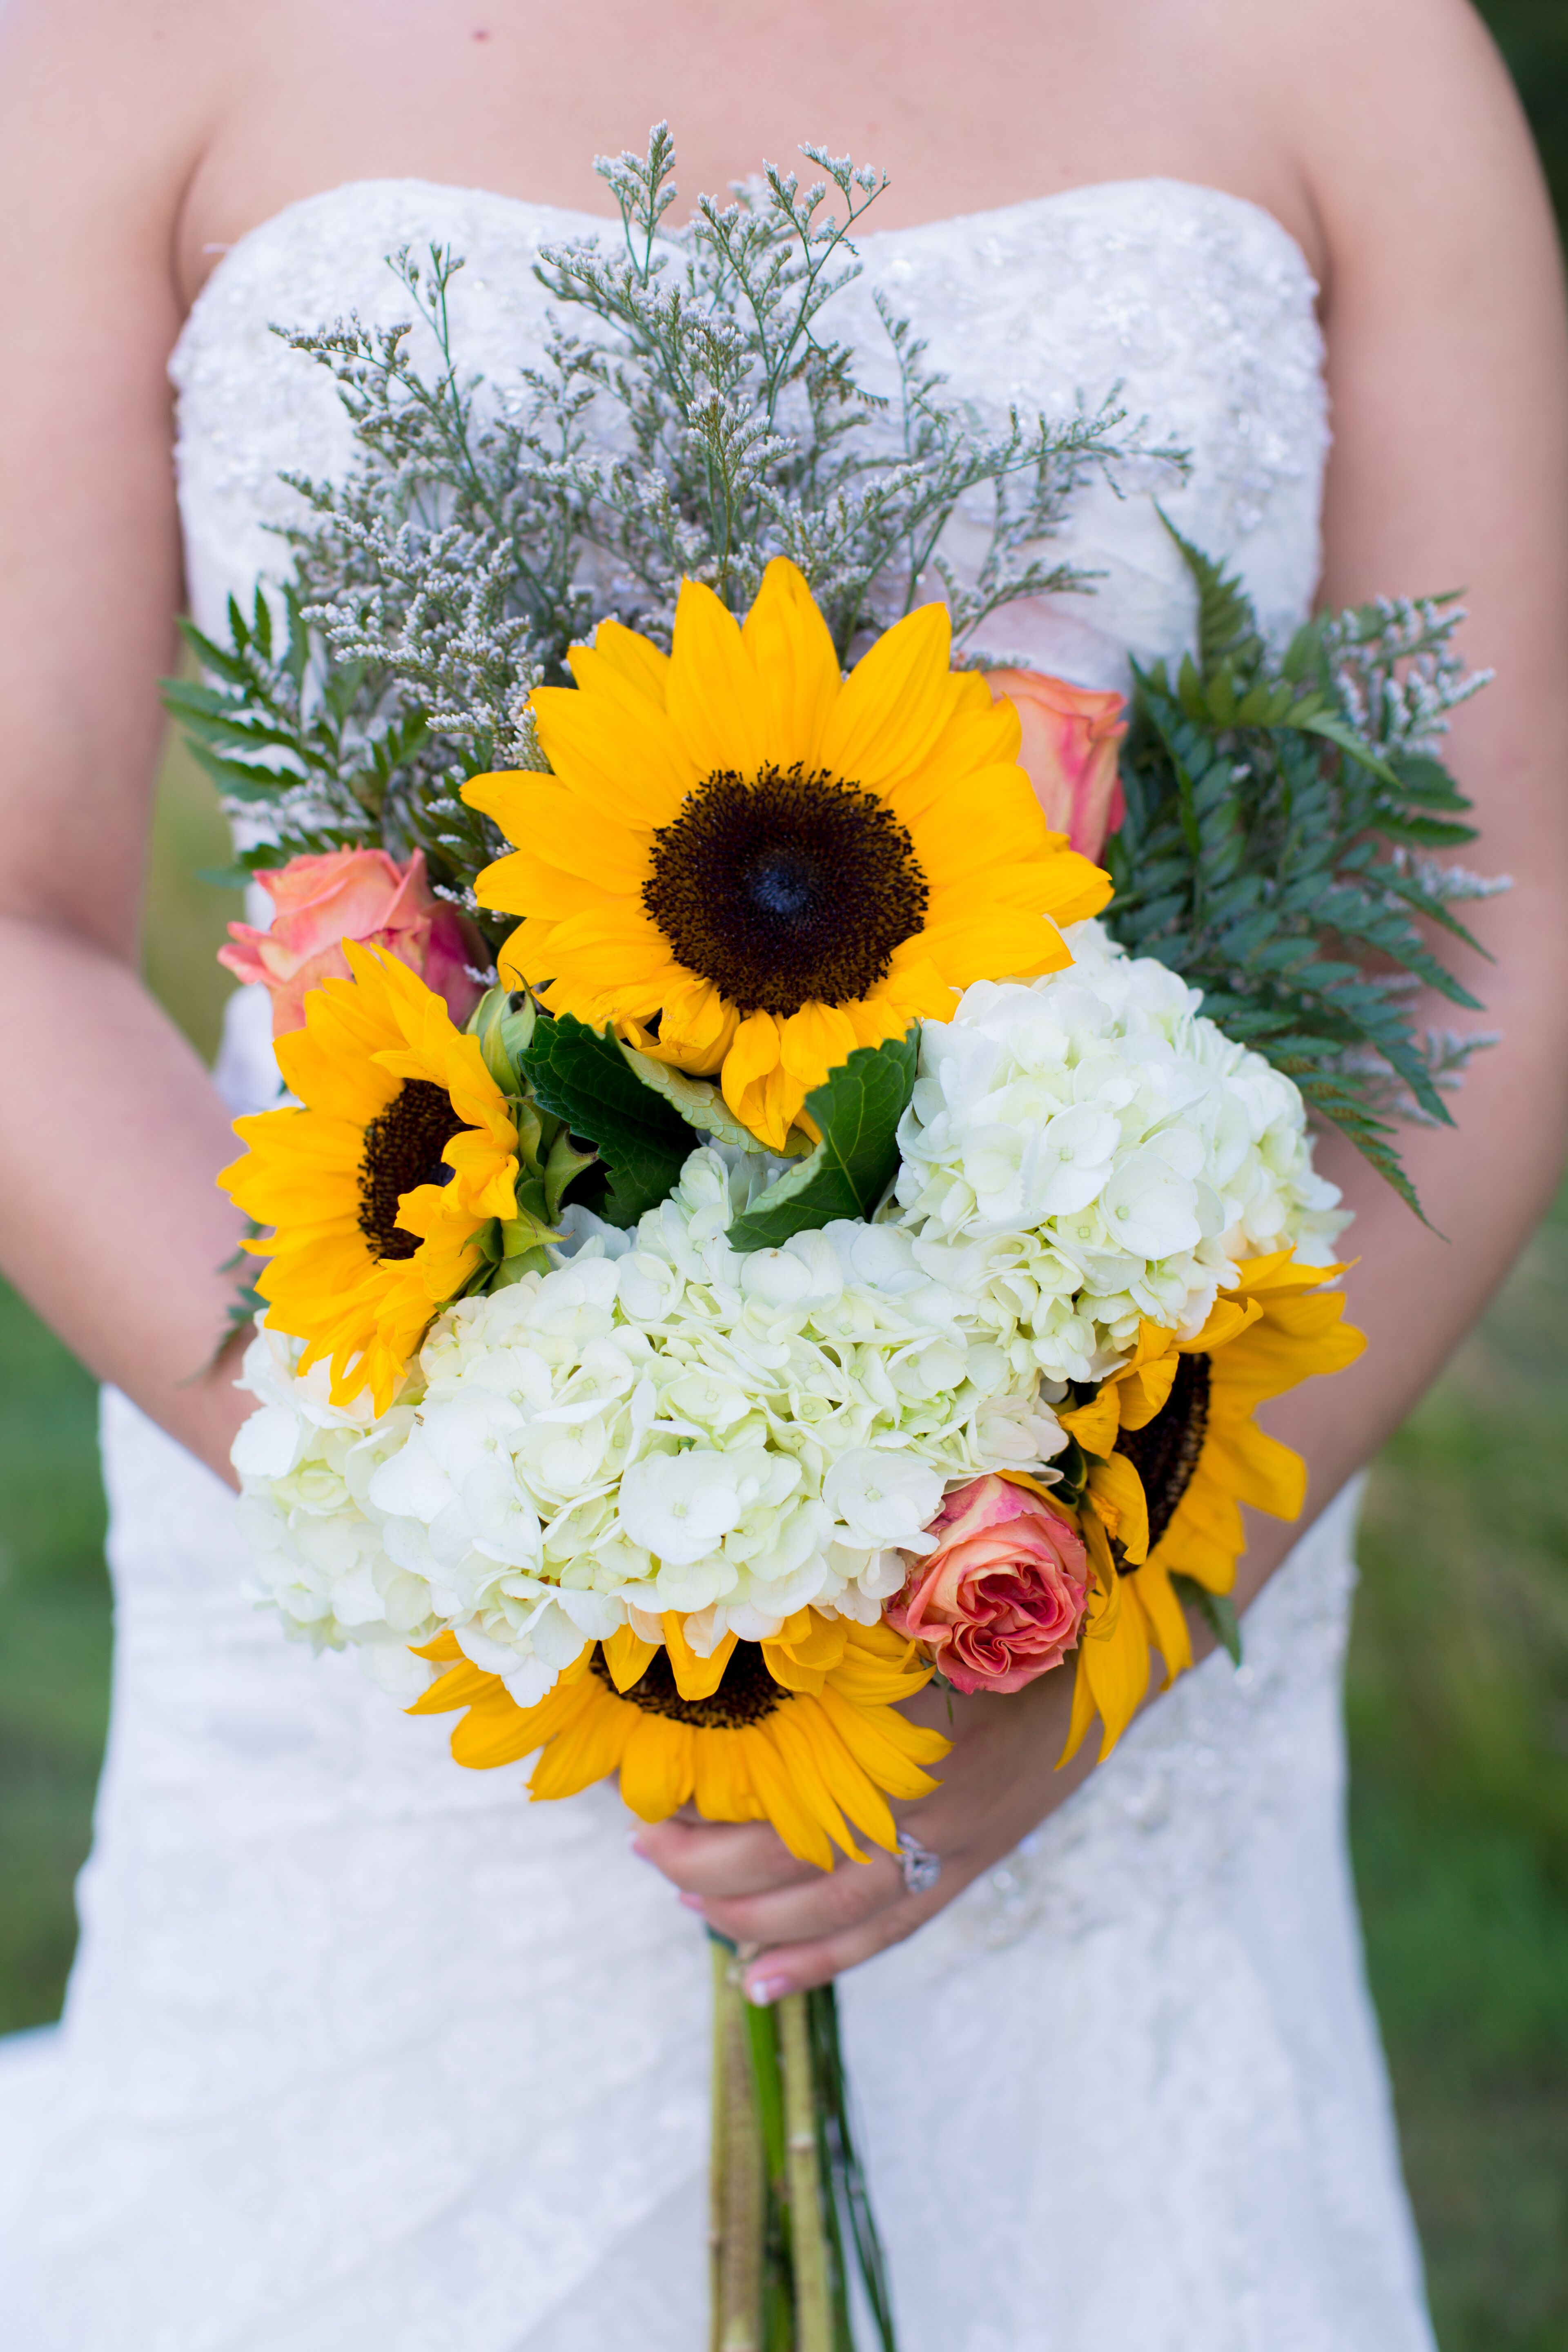
{"label": "coral-pink rose low in the bouquet, beside the lower right sunflower", "polygon": [[1079,1637],[1088,1555],[1074,1526],[1027,1486],[978,1477],[926,1529],[936,1550],[886,1604],[959,1691],[1023,1691]]}

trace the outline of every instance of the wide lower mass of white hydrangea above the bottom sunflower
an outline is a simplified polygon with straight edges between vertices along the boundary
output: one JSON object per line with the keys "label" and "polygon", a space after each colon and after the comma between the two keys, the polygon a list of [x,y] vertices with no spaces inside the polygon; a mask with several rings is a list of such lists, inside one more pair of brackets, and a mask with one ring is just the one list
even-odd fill
{"label": "wide lower mass of white hydrangea above the bottom sunflower", "polygon": [[896,1225],[736,1254],[769,1174],[698,1150],[635,1235],[569,1211],[564,1263],[449,1308],[374,1425],[259,1341],[235,1463],[266,1595],[378,1656],[451,1628],[524,1705],[668,1609],[698,1651],[806,1602],[870,1623],[950,1482],[1063,1432],[1006,1315]]}

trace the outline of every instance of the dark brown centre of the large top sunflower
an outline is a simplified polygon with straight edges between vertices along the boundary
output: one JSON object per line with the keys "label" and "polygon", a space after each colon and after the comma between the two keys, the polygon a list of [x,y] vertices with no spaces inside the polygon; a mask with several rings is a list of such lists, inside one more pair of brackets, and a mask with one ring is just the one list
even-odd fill
{"label": "dark brown centre of the large top sunflower", "polygon": [[851,1004],[926,920],[926,877],[893,811],[837,776],[722,769],[654,835],[642,903],[689,971],[743,1014]]}

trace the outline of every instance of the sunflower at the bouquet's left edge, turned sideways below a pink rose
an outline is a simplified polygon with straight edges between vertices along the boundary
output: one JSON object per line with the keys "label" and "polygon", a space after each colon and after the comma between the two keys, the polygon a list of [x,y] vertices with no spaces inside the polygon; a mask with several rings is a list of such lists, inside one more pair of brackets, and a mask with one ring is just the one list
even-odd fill
{"label": "sunflower at the bouquet's left edge, turned sideways below a pink rose", "polygon": [[247,1143],[219,1183],[270,1225],[256,1289],[268,1324],[331,1357],[331,1402],[369,1388],[378,1414],[433,1315],[482,1261],[480,1230],[515,1216],[517,1129],[505,1096],[407,964],[343,941],[353,981],[306,997],[275,1040],[303,1108],[235,1120]]}

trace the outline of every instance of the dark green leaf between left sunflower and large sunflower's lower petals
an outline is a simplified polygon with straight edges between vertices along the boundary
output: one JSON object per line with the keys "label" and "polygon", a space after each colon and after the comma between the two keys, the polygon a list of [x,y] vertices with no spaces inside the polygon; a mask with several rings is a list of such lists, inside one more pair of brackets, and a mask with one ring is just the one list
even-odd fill
{"label": "dark green leaf between left sunflower and large sunflower's lower petals", "polygon": [[522,1070],[538,1108],[597,1145],[609,1171],[611,1225],[635,1225],[644,1209],[670,1197],[703,1138],[628,1068],[614,1030],[597,1035],[571,1014],[541,1021]]}

